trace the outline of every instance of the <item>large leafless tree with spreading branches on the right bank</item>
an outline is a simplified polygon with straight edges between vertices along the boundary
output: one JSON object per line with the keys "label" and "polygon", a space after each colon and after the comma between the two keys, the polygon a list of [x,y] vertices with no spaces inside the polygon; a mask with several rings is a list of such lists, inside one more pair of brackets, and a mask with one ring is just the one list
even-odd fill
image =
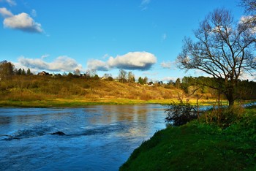
{"label": "large leafless tree with spreading branches on the right bank", "polygon": [[232,106],[239,77],[256,69],[253,29],[242,20],[235,23],[226,9],[214,10],[194,32],[195,40],[184,39],[184,47],[177,57],[179,68],[199,69],[217,78]]}

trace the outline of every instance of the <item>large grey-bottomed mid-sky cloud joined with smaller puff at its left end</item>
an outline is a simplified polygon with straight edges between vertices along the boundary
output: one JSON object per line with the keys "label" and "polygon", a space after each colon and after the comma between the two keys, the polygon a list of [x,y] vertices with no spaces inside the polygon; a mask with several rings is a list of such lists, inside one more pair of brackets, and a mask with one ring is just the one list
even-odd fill
{"label": "large grey-bottomed mid-sky cloud joined with smaller puff at its left end", "polygon": [[157,57],[148,52],[129,52],[123,56],[110,56],[108,61],[90,60],[87,66],[90,69],[107,71],[109,69],[129,69],[146,71],[157,62]]}

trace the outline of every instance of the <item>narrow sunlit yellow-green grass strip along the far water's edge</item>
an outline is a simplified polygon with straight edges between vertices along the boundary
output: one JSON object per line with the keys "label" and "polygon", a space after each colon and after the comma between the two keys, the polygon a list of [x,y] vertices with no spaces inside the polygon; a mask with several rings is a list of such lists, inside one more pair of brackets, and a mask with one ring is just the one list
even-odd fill
{"label": "narrow sunlit yellow-green grass strip along the far water's edge", "polygon": [[[83,107],[87,105],[100,104],[170,104],[178,102],[177,99],[122,99],[122,98],[69,98],[69,99],[42,99],[42,100],[0,100],[0,107]],[[195,99],[191,99],[192,104],[196,104]],[[214,100],[202,100],[200,105],[212,105]],[[227,102],[223,102],[226,104]]]}

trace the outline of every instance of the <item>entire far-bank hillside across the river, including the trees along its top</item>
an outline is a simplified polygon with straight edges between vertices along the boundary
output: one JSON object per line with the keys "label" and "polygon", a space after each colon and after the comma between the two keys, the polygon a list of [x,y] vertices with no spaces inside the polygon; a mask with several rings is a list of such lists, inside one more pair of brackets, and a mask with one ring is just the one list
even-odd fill
{"label": "entire far-bank hillside across the river, including the trees along its top", "polygon": [[[211,100],[224,94],[219,94],[219,80],[214,77],[183,77],[153,83],[147,77],[135,80],[132,72],[120,69],[116,78],[105,74],[102,77],[92,70],[81,74],[79,70],[63,75],[53,75],[48,72],[31,73],[30,69],[15,69],[8,61],[0,64],[0,96],[1,101],[42,101],[47,99],[84,98],[86,102],[97,102],[96,99],[133,99],[133,103],[157,100],[165,103],[165,99],[200,99]],[[256,82],[238,80],[236,86],[236,102],[256,99]],[[221,87],[219,86],[219,89]],[[125,103],[125,102],[124,102]]]}

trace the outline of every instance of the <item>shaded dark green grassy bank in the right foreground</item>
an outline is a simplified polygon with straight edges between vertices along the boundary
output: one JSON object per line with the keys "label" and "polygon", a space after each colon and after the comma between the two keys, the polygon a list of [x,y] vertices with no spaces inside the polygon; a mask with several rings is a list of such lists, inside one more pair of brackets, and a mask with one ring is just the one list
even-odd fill
{"label": "shaded dark green grassy bank in the right foreground", "polygon": [[226,129],[192,121],[156,132],[120,170],[256,170],[255,113]]}

